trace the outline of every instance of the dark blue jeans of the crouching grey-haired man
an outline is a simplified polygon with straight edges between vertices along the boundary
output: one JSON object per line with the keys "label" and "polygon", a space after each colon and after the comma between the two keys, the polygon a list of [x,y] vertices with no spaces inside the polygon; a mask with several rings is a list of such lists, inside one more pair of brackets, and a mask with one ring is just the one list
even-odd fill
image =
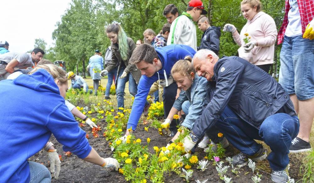
{"label": "dark blue jeans of the crouching grey-haired man", "polygon": [[272,150],[268,155],[270,167],[277,171],[284,170],[289,164],[289,148],[299,133],[299,118],[277,113],[267,117],[258,130],[227,106],[215,126],[235,148],[250,156],[261,148],[254,139],[264,141]]}

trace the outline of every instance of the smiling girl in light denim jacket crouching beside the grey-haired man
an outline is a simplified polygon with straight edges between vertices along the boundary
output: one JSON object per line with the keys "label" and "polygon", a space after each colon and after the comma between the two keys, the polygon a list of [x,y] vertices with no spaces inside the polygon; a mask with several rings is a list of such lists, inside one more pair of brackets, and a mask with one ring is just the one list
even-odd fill
{"label": "smiling girl in light denim jacket crouching beside the grey-haired man", "polygon": [[[184,60],[179,60],[173,65],[171,69],[171,75],[176,81],[178,88],[182,89],[180,96],[174,102],[167,119],[161,125],[164,128],[169,127],[170,122],[173,120],[173,116],[178,113],[178,111],[183,110],[186,114],[184,121],[180,124],[187,129],[192,129],[194,121],[196,121],[203,112],[203,106],[206,106],[210,99],[213,97],[215,83],[207,82],[203,77],[195,75],[195,70],[192,65],[192,57],[186,57]],[[184,133],[184,130],[177,132],[176,135],[171,139],[168,146],[173,143],[178,136]],[[207,136],[204,137],[202,146],[200,148],[206,148],[209,143],[209,138],[214,143],[222,143],[223,147],[226,148],[229,143],[225,137],[220,138],[217,136],[219,130],[212,128],[206,133]],[[209,137],[209,138],[208,138]],[[200,143],[200,144],[201,144]],[[200,145],[198,144],[198,145]],[[213,144],[213,150],[217,150],[216,144]],[[206,149],[208,151],[209,149]]]}

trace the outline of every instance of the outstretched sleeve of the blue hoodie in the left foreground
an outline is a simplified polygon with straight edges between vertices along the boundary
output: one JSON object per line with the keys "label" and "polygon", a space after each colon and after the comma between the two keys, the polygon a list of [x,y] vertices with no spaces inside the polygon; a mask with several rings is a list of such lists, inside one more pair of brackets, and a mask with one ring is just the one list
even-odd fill
{"label": "outstretched sleeve of the blue hoodie in the left foreground", "polygon": [[86,133],[78,126],[65,104],[58,105],[51,112],[46,127],[63,145],[64,151],[71,151],[78,158],[84,159],[92,150]]}

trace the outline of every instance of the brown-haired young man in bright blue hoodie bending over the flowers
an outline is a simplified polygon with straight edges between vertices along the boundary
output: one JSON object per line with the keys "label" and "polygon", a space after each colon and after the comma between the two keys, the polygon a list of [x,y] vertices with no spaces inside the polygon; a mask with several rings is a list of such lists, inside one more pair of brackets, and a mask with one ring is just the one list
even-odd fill
{"label": "brown-haired young man in bright blue hoodie bending over the flowers", "polygon": [[[142,44],[137,46],[133,51],[130,62],[135,64],[141,70],[142,77],[138,83],[138,93],[135,95],[132,111],[127,122],[127,129],[132,127],[135,130],[138,120],[142,115],[143,108],[146,102],[146,97],[152,84],[160,79],[165,79],[166,87],[164,87],[164,112],[165,117],[168,116],[171,107],[176,100],[177,84],[169,81],[172,66],[187,55],[193,57],[194,49],[186,45],[169,45],[154,49],[153,46]],[[170,130],[176,134],[176,121],[170,124]],[[126,135],[130,132],[127,130]]]}

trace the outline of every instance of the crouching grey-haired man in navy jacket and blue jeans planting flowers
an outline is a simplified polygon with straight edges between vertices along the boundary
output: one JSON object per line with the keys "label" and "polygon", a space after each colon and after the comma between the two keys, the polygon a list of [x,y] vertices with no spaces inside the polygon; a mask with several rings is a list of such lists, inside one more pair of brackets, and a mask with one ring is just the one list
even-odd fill
{"label": "crouching grey-haired man in navy jacket and blue jeans planting flowers", "polygon": [[185,137],[185,151],[190,151],[215,126],[241,151],[232,158],[233,164],[244,166],[248,158],[265,159],[265,149],[254,139],[261,140],[272,149],[268,155],[271,179],[287,181],[289,147],[299,132],[299,119],[281,85],[240,57],[219,59],[207,49],[195,54],[193,66],[199,76],[215,81],[216,89],[192,132]]}

